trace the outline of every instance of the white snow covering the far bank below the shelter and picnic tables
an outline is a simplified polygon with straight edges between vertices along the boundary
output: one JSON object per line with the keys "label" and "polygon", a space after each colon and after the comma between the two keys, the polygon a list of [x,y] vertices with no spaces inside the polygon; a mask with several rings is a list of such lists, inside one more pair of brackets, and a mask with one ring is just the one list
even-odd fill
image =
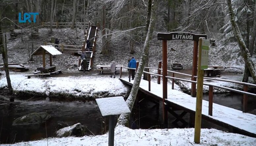
{"label": "white snow covering the far bank below the shelter and picnic tables", "polygon": [[[27,74],[27,73],[26,73]],[[30,78],[25,73],[10,74],[12,87],[15,91],[35,91],[49,95],[51,93],[66,93],[74,96],[99,98],[97,93],[120,96],[128,92],[128,88],[117,78],[108,75],[79,75],[66,77]],[[0,88],[7,85],[6,77],[0,79]],[[79,92],[80,91],[80,92]],[[96,96],[95,96],[96,94]],[[102,95],[108,96],[108,95]]]}

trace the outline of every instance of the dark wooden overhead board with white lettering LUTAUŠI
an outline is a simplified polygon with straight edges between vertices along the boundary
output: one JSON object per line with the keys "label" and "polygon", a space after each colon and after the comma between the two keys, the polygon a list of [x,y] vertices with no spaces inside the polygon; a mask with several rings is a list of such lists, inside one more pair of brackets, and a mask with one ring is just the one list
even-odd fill
{"label": "dark wooden overhead board with white lettering LUTAU\u0160I", "polygon": [[193,40],[199,41],[200,37],[207,39],[206,34],[194,34],[190,32],[157,33],[158,40]]}

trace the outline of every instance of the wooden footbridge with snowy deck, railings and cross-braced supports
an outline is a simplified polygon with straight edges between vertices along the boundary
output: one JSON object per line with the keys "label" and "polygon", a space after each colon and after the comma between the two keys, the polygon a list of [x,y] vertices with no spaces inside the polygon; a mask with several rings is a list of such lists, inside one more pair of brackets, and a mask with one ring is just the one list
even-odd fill
{"label": "wooden footbridge with snowy deck, railings and cross-braced supports", "polygon": [[[119,79],[123,83],[133,86],[134,80],[131,81],[130,76],[128,78],[127,77],[122,78],[122,68],[127,68],[127,67],[121,67]],[[131,68],[128,68],[128,69],[131,70]],[[164,119],[167,117],[167,115],[165,115],[164,113],[169,112],[170,114],[176,117],[173,123],[177,123],[178,121],[180,121],[183,124],[182,126],[184,127],[188,123],[184,119],[182,119],[182,117],[187,113],[189,113],[190,114],[189,125],[190,127],[194,127],[196,98],[191,97],[190,95],[182,93],[180,91],[174,90],[174,80],[187,81],[191,83],[196,83],[196,81],[175,77],[175,74],[183,74],[183,75],[191,76],[189,74],[168,71],[169,73],[172,73],[172,76],[165,76],[165,77],[171,79],[172,84],[169,84],[167,87],[167,93],[168,93],[167,98],[163,98],[164,88],[163,88],[163,84],[160,84],[160,79],[163,78],[163,75],[161,73],[162,69],[147,68],[147,70],[148,71],[147,72],[144,71],[144,73],[148,75],[148,80],[147,81],[143,79],[141,80],[139,90],[149,95],[150,97],[152,97],[152,99],[149,99],[149,100],[153,101],[153,103],[159,104],[161,101],[163,101],[163,104],[165,104],[164,106],[165,108],[163,108],[163,121],[167,121],[166,119]],[[157,74],[150,73],[149,70],[158,70],[158,73]],[[158,83],[151,82],[151,76],[157,76],[159,82]],[[208,78],[205,77],[205,79],[208,79]],[[231,81],[231,80],[223,80],[223,79],[215,79],[215,78],[210,78],[210,79],[242,84],[245,87],[245,91],[240,91],[232,88],[204,83],[204,85],[209,86],[209,101],[203,100],[202,117],[212,123],[215,123],[219,126],[229,129],[229,132],[256,137],[256,115],[245,113],[245,109],[247,107],[246,96],[247,95],[256,96],[256,94],[248,93],[246,90],[248,89],[248,86],[256,87],[256,85],[244,83],[244,82],[238,82],[238,81]],[[221,88],[228,91],[244,94],[244,99],[243,99],[244,112],[213,103],[213,99],[212,99],[213,88]],[[180,111],[180,110],[183,112],[180,115],[178,115],[176,111]]]}

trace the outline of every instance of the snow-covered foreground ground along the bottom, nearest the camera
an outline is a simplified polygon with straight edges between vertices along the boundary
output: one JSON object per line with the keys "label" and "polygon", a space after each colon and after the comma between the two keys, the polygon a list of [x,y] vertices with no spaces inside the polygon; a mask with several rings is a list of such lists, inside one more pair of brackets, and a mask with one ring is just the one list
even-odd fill
{"label": "snow-covered foreground ground along the bottom, nearest the camera", "polygon": [[[83,137],[45,138],[42,140],[3,144],[2,146],[108,146],[109,134]],[[255,146],[256,138],[226,133],[216,129],[201,129],[200,144],[194,143],[194,128],[136,129],[117,126],[116,146]]]}

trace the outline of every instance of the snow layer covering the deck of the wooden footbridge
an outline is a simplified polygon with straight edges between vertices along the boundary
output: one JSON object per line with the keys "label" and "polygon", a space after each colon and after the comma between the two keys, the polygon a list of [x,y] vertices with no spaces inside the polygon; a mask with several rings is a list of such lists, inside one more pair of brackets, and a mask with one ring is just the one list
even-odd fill
{"label": "snow layer covering the deck of the wooden footbridge", "polygon": [[[122,79],[129,82],[128,79]],[[133,80],[131,81],[133,83]],[[148,91],[148,82],[141,80],[140,88]],[[167,100],[183,106],[189,110],[196,110],[196,98],[191,97],[188,94],[182,93],[177,90],[172,90],[171,85],[168,85],[168,98]],[[163,85],[151,83],[150,93],[155,94],[163,98]],[[256,134],[256,115],[243,113],[242,111],[225,107],[213,103],[212,116],[208,115],[208,101],[203,100],[202,115],[208,116],[209,118],[216,119],[218,121],[227,123],[231,126],[237,127],[238,129],[245,130],[249,133]]]}

